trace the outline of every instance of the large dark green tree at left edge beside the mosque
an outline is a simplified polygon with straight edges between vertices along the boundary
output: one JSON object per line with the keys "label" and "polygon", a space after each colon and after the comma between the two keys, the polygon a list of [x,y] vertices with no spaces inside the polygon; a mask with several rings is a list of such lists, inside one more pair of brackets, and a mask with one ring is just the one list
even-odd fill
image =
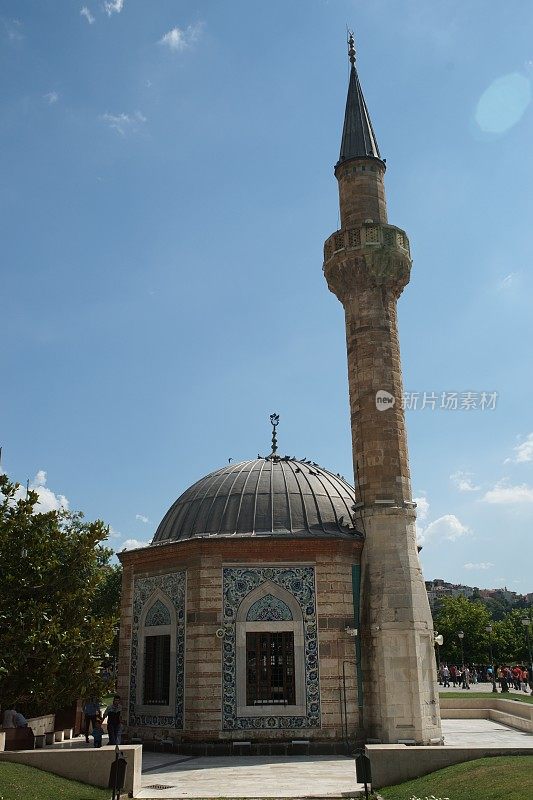
{"label": "large dark green tree at left edge beside the mosque", "polygon": [[107,589],[117,570],[103,522],[36,513],[38,495],[21,499],[18,488],[0,475],[0,703],[39,714],[104,689],[100,664],[119,600]]}

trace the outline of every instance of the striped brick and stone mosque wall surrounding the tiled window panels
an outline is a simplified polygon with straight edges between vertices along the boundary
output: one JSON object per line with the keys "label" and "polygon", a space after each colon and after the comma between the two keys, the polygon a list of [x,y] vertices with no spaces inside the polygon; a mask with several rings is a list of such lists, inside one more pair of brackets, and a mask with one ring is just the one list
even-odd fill
{"label": "striped brick and stone mosque wall surrounding the tiled window panels", "polygon": [[[171,735],[186,741],[217,739],[314,738],[344,736],[342,673],[346,672],[348,732],[358,729],[355,648],[345,633],[353,627],[352,564],[359,563],[361,541],[239,538],[188,540],[120,555],[124,567],[119,655],[119,692],[128,705],[131,603],[134,575],[187,570],[185,644],[185,724],[183,731],[145,728],[144,738]],[[315,567],[320,661],[321,727],[291,730],[222,730],[222,567],[225,565],[300,565]],[[243,733],[245,734],[243,736]]]}

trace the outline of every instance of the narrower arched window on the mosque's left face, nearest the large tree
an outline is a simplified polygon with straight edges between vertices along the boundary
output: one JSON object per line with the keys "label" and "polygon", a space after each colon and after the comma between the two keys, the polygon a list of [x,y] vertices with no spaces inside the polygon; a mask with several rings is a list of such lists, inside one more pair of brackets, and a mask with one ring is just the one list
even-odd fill
{"label": "narrower arched window on the mosque's left face, nearest the large tree", "polygon": [[161,591],[146,601],[139,626],[137,711],[171,713],[176,701],[176,619]]}

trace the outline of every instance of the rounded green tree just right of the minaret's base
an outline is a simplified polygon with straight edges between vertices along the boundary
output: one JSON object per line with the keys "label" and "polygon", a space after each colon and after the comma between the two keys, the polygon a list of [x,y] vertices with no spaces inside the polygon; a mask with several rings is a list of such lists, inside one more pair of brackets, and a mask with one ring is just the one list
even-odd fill
{"label": "rounded green tree just right of the minaret's base", "polygon": [[485,628],[492,618],[484,603],[466,597],[443,597],[433,620],[435,631],[444,637],[441,660],[460,664],[463,631],[463,652],[467,663],[488,664],[489,635]]}

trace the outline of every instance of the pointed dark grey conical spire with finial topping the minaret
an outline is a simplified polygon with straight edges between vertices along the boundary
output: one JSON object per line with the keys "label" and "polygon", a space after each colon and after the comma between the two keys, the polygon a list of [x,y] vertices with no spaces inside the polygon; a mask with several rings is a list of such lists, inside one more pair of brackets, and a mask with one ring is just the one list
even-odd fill
{"label": "pointed dark grey conical spire with finial topping the minaret", "polygon": [[363,97],[359,76],[355,68],[355,40],[353,31],[348,31],[348,58],[350,61],[350,82],[344,128],[342,131],[339,164],[352,158],[379,158],[378,142],[370,121],[370,114]]}

